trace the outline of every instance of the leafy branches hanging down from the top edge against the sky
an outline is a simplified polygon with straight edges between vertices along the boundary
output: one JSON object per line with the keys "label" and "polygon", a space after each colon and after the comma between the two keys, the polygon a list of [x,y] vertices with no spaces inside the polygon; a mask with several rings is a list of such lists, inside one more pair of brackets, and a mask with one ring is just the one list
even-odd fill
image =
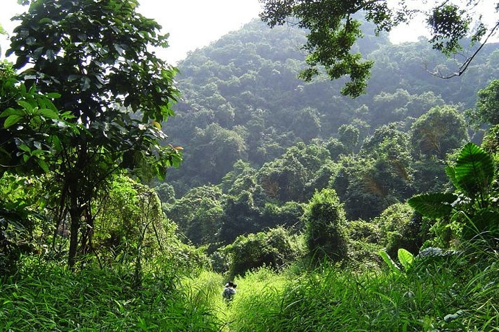
{"label": "leafy branches hanging down from the top edge against the sky", "polygon": [[[348,75],[350,81],[342,89],[344,95],[352,98],[365,92],[372,61],[363,61],[360,53],[353,53],[353,46],[362,37],[360,17],[376,25],[376,33],[389,32],[394,26],[409,21],[423,9],[409,9],[409,0],[399,1],[398,8],[392,8],[386,0],[261,0],[264,5],[260,17],[272,28],[288,22],[309,30],[307,42],[303,46],[308,51],[308,68],[300,76],[310,81],[319,73],[317,65],[324,66],[331,80]],[[499,21],[493,26],[482,23],[481,17],[473,25],[471,15],[466,14],[480,0],[466,1],[461,8],[446,0],[436,1],[435,6],[426,13],[427,24],[432,37],[432,47],[447,56],[462,50],[459,42],[471,37],[471,44],[482,44],[473,54],[465,57],[456,73],[444,77],[459,76],[466,71],[469,63],[482,46],[496,31]],[[295,19],[290,19],[293,17]],[[478,27],[478,28],[475,28]],[[471,36],[470,36],[471,35]],[[441,75],[437,73],[437,75]]]}

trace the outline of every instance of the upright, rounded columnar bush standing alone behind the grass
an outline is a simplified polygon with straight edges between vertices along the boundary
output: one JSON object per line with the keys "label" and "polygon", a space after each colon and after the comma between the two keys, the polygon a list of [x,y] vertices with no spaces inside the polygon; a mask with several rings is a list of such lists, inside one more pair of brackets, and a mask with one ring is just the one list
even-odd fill
{"label": "upright, rounded columnar bush standing alone behind the grass", "polygon": [[316,259],[340,261],[347,255],[347,229],[343,205],[336,192],[315,192],[305,207],[306,245]]}

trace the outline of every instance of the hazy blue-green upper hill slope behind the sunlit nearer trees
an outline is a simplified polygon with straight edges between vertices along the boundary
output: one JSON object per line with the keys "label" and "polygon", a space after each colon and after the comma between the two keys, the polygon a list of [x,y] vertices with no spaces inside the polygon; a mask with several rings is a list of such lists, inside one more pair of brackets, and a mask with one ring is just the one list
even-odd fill
{"label": "hazy blue-green upper hill slope behind the sunlit nearer trees", "polygon": [[455,62],[432,50],[427,40],[393,45],[373,30],[367,26],[358,43],[375,64],[367,94],[355,100],[340,95],[342,82],[296,77],[305,66],[300,50],[305,33],[291,26],[270,30],[254,21],[180,62],[183,101],[165,127],[185,149],[184,167],[168,176],[177,194],[220,183],[239,159],[260,167],[299,141],[338,138],[342,124],[353,124],[361,143],[389,122],[409,128],[433,106],[473,107],[477,91],[498,75],[494,45],[479,54],[466,75],[442,80],[426,67],[453,68]]}

